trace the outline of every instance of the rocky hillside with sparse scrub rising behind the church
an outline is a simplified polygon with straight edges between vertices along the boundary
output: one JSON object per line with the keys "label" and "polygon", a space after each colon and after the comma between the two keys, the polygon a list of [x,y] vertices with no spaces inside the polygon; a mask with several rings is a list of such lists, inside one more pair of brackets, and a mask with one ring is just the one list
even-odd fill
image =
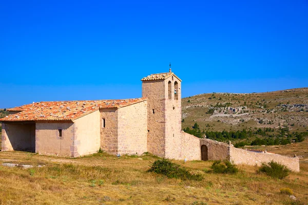
{"label": "rocky hillside with sparse scrub rising behind the church", "polygon": [[205,93],[182,99],[182,128],[205,131],[308,130],[308,88],[266,93]]}

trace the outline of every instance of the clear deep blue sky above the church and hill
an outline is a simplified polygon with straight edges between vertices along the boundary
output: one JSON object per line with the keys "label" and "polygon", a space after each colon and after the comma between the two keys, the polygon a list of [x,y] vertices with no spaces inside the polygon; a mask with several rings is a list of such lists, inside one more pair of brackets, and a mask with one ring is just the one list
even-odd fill
{"label": "clear deep blue sky above the church and hill", "polygon": [[308,87],[308,2],[2,1],[0,108],[141,97],[168,72],[182,95]]}

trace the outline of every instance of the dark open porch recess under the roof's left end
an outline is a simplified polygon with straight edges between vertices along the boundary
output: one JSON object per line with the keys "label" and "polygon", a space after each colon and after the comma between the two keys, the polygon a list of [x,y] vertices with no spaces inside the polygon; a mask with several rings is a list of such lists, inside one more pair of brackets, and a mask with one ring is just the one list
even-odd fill
{"label": "dark open porch recess under the roof's left end", "polygon": [[2,151],[35,152],[35,124],[2,123]]}

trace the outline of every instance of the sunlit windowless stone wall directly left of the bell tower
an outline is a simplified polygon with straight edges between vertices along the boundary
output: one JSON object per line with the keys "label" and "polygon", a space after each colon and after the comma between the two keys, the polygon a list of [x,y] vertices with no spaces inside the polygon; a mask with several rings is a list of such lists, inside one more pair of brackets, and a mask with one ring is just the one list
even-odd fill
{"label": "sunlit windowless stone wall directly left of the bell tower", "polygon": [[118,153],[138,154],[147,151],[147,101],[118,111]]}

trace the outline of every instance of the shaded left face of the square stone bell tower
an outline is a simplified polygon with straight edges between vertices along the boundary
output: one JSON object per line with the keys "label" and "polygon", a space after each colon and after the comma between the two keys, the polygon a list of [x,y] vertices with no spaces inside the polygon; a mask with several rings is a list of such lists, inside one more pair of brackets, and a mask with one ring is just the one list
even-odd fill
{"label": "shaded left face of the square stone bell tower", "polygon": [[[142,97],[147,97],[147,151],[165,156],[165,82],[142,82]],[[154,113],[153,113],[154,110]]]}

